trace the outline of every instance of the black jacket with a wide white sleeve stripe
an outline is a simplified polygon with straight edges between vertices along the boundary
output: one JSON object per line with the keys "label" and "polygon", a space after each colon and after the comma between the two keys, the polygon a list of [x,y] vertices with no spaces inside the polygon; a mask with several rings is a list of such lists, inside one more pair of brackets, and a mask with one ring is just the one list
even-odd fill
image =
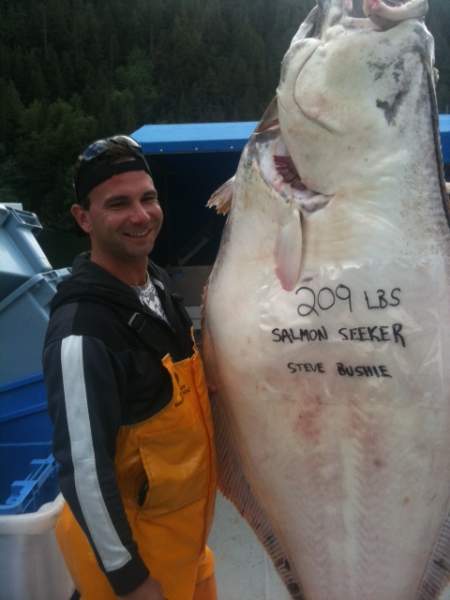
{"label": "black jacket with a wide white sleeve stripe", "polygon": [[43,354],[61,491],[118,595],[134,590],[148,571],[116,484],[116,436],[170,401],[161,358],[170,353],[178,361],[193,352],[191,322],[169,277],[153,263],[149,272],[170,325],[130,286],[87,255],[78,257],[52,301]]}

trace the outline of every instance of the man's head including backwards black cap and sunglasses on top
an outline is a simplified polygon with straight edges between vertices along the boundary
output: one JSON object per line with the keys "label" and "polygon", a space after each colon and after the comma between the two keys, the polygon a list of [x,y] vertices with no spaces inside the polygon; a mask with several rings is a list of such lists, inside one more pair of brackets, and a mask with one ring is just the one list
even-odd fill
{"label": "man's head including backwards black cap and sunglasses on top", "polygon": [[78,158],[74,188],[71,212],[91,239],[92,260],[126,280],[146,265],[163,219],[141,147],[128,136],[92,143]]}

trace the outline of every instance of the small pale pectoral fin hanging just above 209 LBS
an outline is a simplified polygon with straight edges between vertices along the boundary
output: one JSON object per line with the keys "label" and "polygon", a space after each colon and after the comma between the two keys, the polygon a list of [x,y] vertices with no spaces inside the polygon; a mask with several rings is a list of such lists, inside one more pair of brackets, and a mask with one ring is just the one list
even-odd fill
{"label": "small pale pectoral fin hanging just above 209 LBS", "polygon": [[300,278],[302,264],[302,227],[298,208],[292,208],[282,223],[275,246],[275,273],[283,289],[290,291]]}

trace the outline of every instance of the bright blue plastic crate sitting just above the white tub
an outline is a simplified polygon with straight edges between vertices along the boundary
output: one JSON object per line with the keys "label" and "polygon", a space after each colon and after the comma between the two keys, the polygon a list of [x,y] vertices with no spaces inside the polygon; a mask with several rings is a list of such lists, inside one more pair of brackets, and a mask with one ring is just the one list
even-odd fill
{"label": "bright blue plastic crate sitting just above the white tub", "polygon": [[0,515],[35,512],[58,495],[51,443],[0,444]]}

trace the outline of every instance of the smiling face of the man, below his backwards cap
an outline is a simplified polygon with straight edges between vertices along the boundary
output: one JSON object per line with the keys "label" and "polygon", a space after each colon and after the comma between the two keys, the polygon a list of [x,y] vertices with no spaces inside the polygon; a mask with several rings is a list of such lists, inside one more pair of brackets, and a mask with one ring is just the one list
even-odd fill
{"label": "smiling face of the man, below his backwards cap", "polygon": [[91,238],[92,253],[133,262],[152,251],[163,214],[151,177],[144,171],[114,175],[91,190],[90,207],[72,214]]}

